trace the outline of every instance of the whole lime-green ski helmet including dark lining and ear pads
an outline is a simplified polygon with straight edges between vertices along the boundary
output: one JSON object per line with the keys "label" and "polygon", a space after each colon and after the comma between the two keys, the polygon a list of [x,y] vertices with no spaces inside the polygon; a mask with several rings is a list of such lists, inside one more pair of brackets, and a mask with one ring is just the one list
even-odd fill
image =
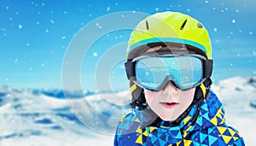
{"label": "whole lime-green ski helmet including dark lining and ear pads", "polygon": [[[167,11],[150,15],[140,21],[131,32],[127,48],[127,61],[131,61],[146,52],[148,48],[152,48],[148,44],[156,44],[157,46],[158,43],[183,44],[188,50],[193,49],[207,59],[212,59],[212,45],[207,29],[201,22],[187,14]],[[206,98],[211,84],[212,81],[208,78],[196,87],[195,99]],[[132,95],[131,107],[145,109],[146,101],[143,88],[138,87],[130,79],[130,90]]]}

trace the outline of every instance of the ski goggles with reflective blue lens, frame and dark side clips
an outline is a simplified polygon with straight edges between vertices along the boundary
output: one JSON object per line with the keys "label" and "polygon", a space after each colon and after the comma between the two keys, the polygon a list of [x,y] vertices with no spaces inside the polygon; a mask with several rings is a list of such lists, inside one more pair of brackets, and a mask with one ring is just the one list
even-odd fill
{"label": "ski goggles with reflective blue lens, frame and dark side clips", "polygon": [[212,75],[212,60],[199,54],[143,55],[125,63],[129,80],[151,91],[169,81],[181,90],[197,87]]}

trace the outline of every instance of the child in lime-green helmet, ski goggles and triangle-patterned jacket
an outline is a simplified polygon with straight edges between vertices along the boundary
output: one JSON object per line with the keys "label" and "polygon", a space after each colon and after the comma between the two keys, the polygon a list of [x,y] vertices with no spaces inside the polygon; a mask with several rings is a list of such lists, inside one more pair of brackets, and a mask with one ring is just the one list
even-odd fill
{"label": "child in lime-green helmet, ski goggles and triangle-patterned jacket", "polygon": [[210,90],[212,46],[189,15],[148,16],[131,33],[125,69],[131,108],[114,145],[244,145]]}

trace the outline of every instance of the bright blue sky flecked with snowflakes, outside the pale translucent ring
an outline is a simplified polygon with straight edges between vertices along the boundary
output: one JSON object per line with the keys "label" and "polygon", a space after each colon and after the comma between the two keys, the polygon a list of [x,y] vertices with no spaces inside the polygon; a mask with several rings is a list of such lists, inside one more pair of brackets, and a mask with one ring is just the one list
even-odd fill
{"label": "bright blue sky flecked with snowflakes, outside the pale translucent ring", "polygon": [[[61,88],[63,60],[73,36],[91,21],[121,11],[154,14],[171,10],[190,14],[207,27],[212,38],[213,81],[231,76],[255,76],[255,5],[253,0],[2,0],[0,84],[25,88]],[[97,23],[95,25],[100,26]],[[95,88],[91,79],[95,73],[93,66],[97,65],[106,49],[127,42],[130,33],[131,30],[114,31],[107,34],[110,40],[102,38],[92,46],[87,53],[90,61],[83,62],[79,76],[84,89]],[[102,74],[102,81],[104,77]],[[110,76],[111,81],[113,78]]]}

